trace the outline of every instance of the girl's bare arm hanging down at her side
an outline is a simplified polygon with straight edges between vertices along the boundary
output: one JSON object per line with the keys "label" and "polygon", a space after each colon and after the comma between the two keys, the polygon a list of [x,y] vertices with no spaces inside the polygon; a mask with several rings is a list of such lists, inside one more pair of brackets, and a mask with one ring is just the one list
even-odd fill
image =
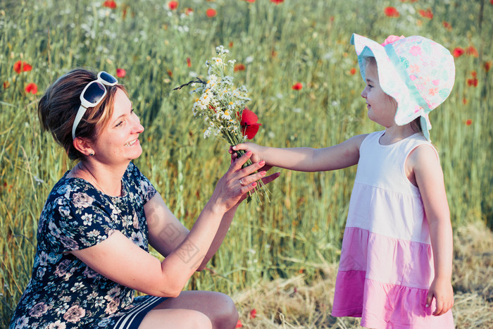
{"label": "girl's bare arm hanging down at her side", "polygon": [[435,298],[437,308],[433,315],[447,313],[454,305],[452,275],[452,228],[444,178],[435,150],[426,145],[417,147],[409,155],[409,163],[419,187],[426,218],[430,227],[435,278],[432,281],[426,307]]}

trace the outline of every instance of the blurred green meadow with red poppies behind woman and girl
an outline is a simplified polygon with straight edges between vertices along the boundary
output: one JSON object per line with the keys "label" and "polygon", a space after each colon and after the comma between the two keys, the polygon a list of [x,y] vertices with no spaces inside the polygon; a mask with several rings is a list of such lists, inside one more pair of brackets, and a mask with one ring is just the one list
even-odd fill
{"label": "blurred green meadow with red poppies behind woman and girl", "polygon": [[[224,45],[237,61],[254,141],[326,147],[380,130],[366,118],[353,32],[423,35],[456,56],[456,85],[430,114],[455,231],[457,328],[493,326],[493,1],[77,0],[0,2],[0,328],[30,278],[37,219],[70,169],[39,128],[36,104],[70,68],[120,75],[146,128],[135,161],[190,226],[229,163],[203,139],[186,88]],[[125,70],[125,73],[121,70]],[[122,76],[124,75],[124,76]],[[299,87],[293,87],[297,83]],[[299,86],[299,85],[298,85]],[[282,170],[270,204],[244,204],[208,271],[187,289],[232,295],[244,328],[354,328],[330,317],[356,168]]]}

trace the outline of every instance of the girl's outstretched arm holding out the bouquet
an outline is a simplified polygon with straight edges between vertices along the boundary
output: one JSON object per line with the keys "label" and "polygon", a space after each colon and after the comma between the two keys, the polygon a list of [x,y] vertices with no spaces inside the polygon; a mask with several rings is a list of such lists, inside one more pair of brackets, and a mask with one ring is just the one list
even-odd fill
{"label": "girl's outstretched arm holding out the bouquet", "polygon": [[254,154],[251,161],[266,161],[266,166],[297,171],[325,171],[354,166],[359,160],[359,147],[367,135],[357,135],[346,141],[313,149],[310,147],[262,147],[254,143],[237,144],[230,151],[243,149]]}

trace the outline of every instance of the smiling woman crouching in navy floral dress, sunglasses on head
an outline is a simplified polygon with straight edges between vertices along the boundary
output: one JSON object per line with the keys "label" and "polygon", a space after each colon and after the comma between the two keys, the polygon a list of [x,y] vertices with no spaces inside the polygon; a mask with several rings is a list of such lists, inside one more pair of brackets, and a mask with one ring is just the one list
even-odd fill
{"label": "smiling woman crouching in navy floral dress, sunglasses on head", "polygon": [[72,70],[46,90],[38,113],[77,164],[46,200],[11,328],[234,328],[230,297],[182,289],[216,253],[256,181],[279,173],[254,173],[263,161],[242,169],[251,153],[234,156],[187,230],[131,162],[144,128],[115,77]]}

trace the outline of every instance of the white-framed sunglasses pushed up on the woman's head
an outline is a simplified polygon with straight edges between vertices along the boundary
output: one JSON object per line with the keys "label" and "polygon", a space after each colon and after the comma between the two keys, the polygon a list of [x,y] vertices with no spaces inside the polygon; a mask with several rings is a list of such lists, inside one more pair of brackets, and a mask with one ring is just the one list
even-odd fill
{"label": "white-framed sunglasses pushed up on the woman's head", "polygon": [[86,113],[87,108],[97,106],[108,93],[104,86],[114,86],[117,83],[118,80],[116,80],[116,77],[101,71],[98,73],[98,78],[96,80],[89,82],[85,86],[80,94],[80,107],[72,125],[72,140],[75,139],[75,130],[77,129],[80,120],[82,120],[82,116]]}

